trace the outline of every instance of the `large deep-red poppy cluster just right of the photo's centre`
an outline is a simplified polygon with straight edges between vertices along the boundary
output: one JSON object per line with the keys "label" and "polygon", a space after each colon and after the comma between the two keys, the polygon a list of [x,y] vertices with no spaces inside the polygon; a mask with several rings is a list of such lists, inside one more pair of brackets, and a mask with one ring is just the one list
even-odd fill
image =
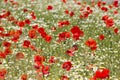
{"label": "large deep-red poppy cluster just right of the photo's centre", "polygon": [[73,35],[74,40],[79,40],[79,38],[84,35],[84,32],[81,29],[79,29],[78,26],[73,26],[73,28],[71,29],[71,33]]}

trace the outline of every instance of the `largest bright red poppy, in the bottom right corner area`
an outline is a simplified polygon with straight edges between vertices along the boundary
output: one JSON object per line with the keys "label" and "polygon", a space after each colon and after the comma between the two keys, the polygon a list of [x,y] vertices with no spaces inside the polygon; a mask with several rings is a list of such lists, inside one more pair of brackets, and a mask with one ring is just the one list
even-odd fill
{"label": "largest bright red poppy, in the bottom right corner area", "polygon": [[109,78],[109,74],[110,74],[110,70],[107,68],[104,69],[98,69],[95,72],[94,77],[97,79],[105,79],[105,78]]}

